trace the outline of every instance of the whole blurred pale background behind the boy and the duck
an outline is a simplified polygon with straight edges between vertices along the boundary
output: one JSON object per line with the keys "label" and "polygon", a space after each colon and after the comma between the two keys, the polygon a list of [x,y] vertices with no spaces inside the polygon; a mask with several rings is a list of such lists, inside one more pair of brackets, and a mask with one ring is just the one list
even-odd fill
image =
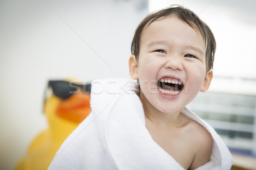
{"label": "whole blurred pale background behind the boy and the duck", "polygon": [[255,156],[256,1],[0,0],[0,169],[12,170],[47,128],[49,79],[129,78],[137,25],[172,4],[198,14],[217,42],[212,85],[188,107],[234,153]]}

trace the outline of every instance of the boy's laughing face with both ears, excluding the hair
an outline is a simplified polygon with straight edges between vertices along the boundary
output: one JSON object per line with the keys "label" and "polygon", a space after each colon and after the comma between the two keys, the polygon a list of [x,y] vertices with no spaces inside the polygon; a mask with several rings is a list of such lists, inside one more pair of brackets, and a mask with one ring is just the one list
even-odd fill
{"label": "boy's laughing face with both ears, excluding the hair", "polygon": [[133,79],[140,80],[140,97],[164,113],[180,111],[199,91],[209,88],[206,46],[201,34],[177,17],[154,21],[144,28],[138,62],[129,59]]}

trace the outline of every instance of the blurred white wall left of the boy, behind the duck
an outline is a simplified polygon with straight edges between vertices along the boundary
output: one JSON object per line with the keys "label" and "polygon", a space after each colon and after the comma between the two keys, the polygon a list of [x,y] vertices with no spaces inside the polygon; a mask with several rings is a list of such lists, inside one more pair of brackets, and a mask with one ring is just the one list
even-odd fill
{"label": "blurred white wall left of the boy, behind the duck", "polygon": [[0,1],[0,169],[13,169],[44,128],[48,79],[129,77],[147,0]]}

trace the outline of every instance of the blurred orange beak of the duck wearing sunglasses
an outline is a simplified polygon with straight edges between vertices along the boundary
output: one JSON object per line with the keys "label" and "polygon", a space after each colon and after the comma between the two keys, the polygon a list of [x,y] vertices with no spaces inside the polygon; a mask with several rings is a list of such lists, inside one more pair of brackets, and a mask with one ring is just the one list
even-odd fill
{"label": "blurred orange beak of the duck wearing sunglasses", "polygon": [[76,123],[81,123],[90,112],[90,94],[82,92],[63,100],[56,111],[58,116]]}

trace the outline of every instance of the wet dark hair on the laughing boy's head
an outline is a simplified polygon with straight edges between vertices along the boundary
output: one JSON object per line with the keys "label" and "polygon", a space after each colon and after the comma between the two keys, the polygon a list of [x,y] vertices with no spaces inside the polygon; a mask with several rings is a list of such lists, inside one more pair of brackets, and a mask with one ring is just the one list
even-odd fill
{"label": "wet dark hair on the laughing boy's head", "polygon": [[138,61],[140,54],[140,41],[143,30],[150,26],[150,24],[154,21],[161,20],[168,16],[177,17],[201,33],[206,45],[206,71],[212,69],[216,50],[216,42],[212,31],[207,24],[204,23],[193,11],[184,8],[183,6],[173,5],[169,8],[164,8],[155,13],[148,14],[148,16],[146,16],[140,22],[134,33],[134,38],[131,42],[131,54],[135,55],[136,60]]}

